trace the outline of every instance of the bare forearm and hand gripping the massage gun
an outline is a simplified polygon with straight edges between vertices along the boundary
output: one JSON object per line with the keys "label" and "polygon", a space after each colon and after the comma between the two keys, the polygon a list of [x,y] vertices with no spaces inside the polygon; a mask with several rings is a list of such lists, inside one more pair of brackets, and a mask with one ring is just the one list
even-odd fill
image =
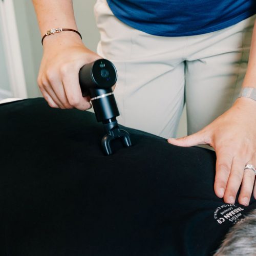
{"label": "bare forearm and hand gripping the massage gun", "polygon": [[[43,36],[53,28],[77,29],[72,0],[33,0]],[[82,97],[78,72],[83,65],[101,58],[86,48],[77,33],[62,31],[44,39],[38,73],[39,89],[53,108],[87,110],[89,97]]]}

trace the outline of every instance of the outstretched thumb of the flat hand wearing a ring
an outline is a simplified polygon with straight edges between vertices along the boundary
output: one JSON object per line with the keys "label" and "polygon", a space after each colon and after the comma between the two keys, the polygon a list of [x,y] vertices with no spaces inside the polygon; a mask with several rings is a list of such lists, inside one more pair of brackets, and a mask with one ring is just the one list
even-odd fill
{"label": "outstretched thumb of the flat hand wearing a ring", "polygon": [[195,146],[198,144],[208,144],[206,143],[203,133],[197,132],[194,134],[191,134],[189,136],[185,136],[182,138],[169,138],[167,140],[170,144],[176,145],[176,146]]}

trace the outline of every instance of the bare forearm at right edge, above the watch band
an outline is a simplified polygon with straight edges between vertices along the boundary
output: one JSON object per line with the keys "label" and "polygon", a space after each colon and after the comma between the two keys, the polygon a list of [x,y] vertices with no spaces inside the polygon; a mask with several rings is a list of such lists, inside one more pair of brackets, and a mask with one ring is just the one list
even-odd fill
{"label": "bare forearm at right edge, above the watch band", "polygon": [[256,21],[251,40],[250,57],[247,72],[244,78],[243,87],[256,88]]}

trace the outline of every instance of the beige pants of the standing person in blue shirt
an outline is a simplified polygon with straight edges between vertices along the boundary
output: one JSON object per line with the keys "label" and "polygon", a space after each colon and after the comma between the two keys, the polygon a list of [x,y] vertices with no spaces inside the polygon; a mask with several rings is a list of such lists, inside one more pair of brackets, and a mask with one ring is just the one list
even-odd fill
{"label": "beige pants of the standing person in blue shirt", "polygon": [[98,54],[117,68],[118,121],[165,138],[176,135],[184,102],[188,134],[230,108],[246,72],[255,15],[216,32],[154,36],[118,20],[105,0],[95,5]]}

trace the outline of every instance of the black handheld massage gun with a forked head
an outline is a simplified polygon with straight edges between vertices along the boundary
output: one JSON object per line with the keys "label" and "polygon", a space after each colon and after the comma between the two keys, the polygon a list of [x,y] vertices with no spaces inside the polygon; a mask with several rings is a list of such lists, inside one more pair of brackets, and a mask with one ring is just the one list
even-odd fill
{"label": "black handheld massage gun with a forked head", "polygon": [[132,145],[130,135],[120,130],[116,117],[119,116],[112,86],[116,83],[117,72],[112,62],[98,59],[83,66],[79,71],[79,83],[83,96],[91,97],[98,122],[102,122],[106,135],[101,144],[106,155],[111,155],[111,141],[121,139],[125,147]]}

